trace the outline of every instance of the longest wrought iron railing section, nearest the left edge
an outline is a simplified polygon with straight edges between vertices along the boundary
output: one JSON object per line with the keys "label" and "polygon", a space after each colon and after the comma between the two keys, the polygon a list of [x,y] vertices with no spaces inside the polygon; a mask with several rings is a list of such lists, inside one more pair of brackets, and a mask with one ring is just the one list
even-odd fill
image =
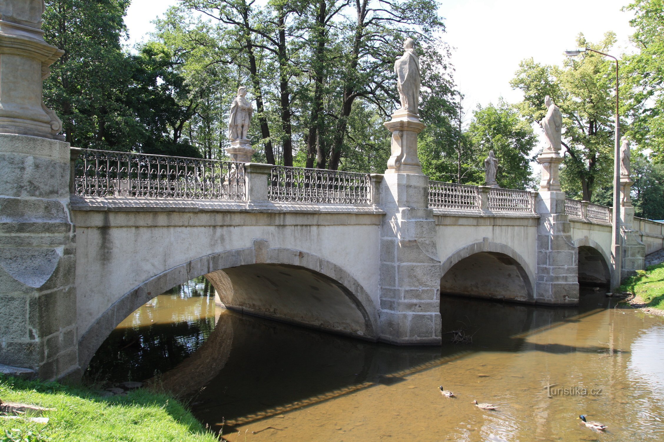
{"label": "longest wrought iron railing section, nearest the left edge", "polygon": [[183,199],[246,199],[244,164],[81,149],[76,195]]}

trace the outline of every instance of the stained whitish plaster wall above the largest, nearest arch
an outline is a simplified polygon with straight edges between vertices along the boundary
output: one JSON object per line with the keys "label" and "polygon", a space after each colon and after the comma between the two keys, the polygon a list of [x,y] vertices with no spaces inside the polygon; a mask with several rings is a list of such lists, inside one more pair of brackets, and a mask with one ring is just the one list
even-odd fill
{"label": "stained whitish plaster wall above the largest, nearest arch", "polygon": [[208,254],[251,248],[254,239],[333,262],[379,304],[379,213],[76,208],[79,335],[141,282]]}

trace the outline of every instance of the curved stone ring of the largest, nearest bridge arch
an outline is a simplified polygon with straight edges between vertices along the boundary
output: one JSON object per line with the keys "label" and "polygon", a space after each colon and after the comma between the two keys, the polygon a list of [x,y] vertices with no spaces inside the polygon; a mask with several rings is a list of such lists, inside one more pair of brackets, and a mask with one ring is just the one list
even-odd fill
{"label": "curved stone ring of the largest, nearest bridge arch", "polygon": [[[223,272],[224,269],[252,268],[255,276],[256,270],[264,270],[265,266],[272,266],[274,267],[273,270],[276,271],[286,266],[291,271],[299,272],[300,275],[303,272],[309,273],[311,278],[331,287],[337,297],[345,296],[347,304],[352,304],[357,309],[357,314],[359,314],[362,324],[360,327],[355,327],[355,329],[344,330],[335,329],[334,326],[338,325],[337,323],[312,324],[297,319],[290,320],[288,317],[278,317],[276,319],[324,329],[326,331],[353,335],[371,341],[378,339],[378,318],[374,302],[365,288],[349,272],[337,266],[337,264],[314,254],[295,249],[270,249],[267,241],[255,240],[254,247],[225,250],[169,268],[160,274],[148,278],[125,293],[118,301],[106,309],[94,321],[88,331],[80,337],[78,341],[79,366],[85,370],[94,353],[96,353],[97,349],[120,322],[135,311],[135,309],[170,288],[184,284],[198,276],[213,276],[214,274],[220,276],[220,272],[225,274]],[[228,275],[225,278],[228,278]],[[216,279],[216,284],[220,281],[220,278],[209,279],[213,286],[215,284],[214,279]],[[223,275],[221,279],[224,279]],[[269,278],[266,278],[266,280],[270,281]],[[341,300],[337,299],[337,301]],[[237,309],[240,310],[240,308]],[[242,309],[242,311],[245,310]],[[247,312],[255,313],[253,311]],[[264,316],[270,317],[270,315]]]}

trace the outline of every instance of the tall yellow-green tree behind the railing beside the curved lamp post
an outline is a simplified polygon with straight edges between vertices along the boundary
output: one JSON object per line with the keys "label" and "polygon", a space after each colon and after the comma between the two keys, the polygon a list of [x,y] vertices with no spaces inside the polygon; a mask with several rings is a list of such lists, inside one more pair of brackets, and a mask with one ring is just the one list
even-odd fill
{"label": "tall yellow-green tree behind the railing beside the curved lamp post", "polygon": [[[592,44],[579,34],[577,44],[609,52],[616,42],[607,32],[600,44]],[[613,171],[615,70],[612,62],[594,52],[585,52],[580,60],[568,59],[564,67],[542,66],[532,58],[519,64],[512,87],[521,89],[524,99],[519,110],[529,121],[540,123],[546,108],[544,97],[550,95],[560,107],[563,121],[562,146],[564,168],[560,173],[563,190],[580,192],[590,201],[598,187],[610,182]],[[629,89],[621,89],[629,99]],[[621,125],[625,124],[621,122]]]}

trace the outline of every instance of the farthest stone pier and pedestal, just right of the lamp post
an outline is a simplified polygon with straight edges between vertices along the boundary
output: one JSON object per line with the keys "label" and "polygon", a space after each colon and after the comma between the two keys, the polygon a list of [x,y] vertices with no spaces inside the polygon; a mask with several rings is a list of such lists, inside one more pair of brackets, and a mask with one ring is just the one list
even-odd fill
{"label": "farthest stone pier and pedestal, just right of the lamp post", "polygon": [[621,280],[635,274],[636,270],[645,268],[645,245],[641,243],[638,233],[633,229],[634,207],[630,195],[633,184],[629,177],[620,178]]}

